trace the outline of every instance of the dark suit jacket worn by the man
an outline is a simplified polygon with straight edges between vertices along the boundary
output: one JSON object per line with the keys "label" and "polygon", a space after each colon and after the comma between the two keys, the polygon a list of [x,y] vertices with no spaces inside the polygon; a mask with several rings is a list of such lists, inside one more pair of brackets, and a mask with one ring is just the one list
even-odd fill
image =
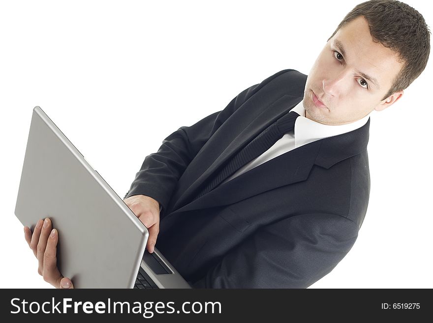
{"label": "dark suit jacket worn by the man", "polygon": [[354,244],[367,211],[368,122],[286,152],[192,201],[217,170],[303,99],[279,71],[169,135],[127,197],[162,206],[156,248],[195,288],[306,288]]}

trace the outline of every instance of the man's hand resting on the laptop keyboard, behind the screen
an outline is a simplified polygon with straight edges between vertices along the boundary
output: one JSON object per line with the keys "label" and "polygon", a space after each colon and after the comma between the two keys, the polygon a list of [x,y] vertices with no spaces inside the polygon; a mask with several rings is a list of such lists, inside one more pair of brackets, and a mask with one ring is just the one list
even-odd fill
{"label": "man's hand resting on the laptop keyboard, behind the screen", "polygon": [[147,250],[154,252],[159,233],[159,203],[147,195],[134,195],[124,199],[124,203],[149,230]]}

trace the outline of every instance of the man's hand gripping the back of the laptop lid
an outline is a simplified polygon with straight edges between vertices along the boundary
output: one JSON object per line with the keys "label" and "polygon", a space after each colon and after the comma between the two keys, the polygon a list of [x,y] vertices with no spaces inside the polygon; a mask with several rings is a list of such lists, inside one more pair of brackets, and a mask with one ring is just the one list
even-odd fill
{"label": "man's hand gripping the back of the laptop lid", "polygon": [[37,221],[33,234],[29,227],[24,227],[24,237],[39,262],[39,275],[56,288],[74,288],[71,280],[63,277],[57,267],[59,233],[51,229],[51,220],[46,218],[45,221]]}

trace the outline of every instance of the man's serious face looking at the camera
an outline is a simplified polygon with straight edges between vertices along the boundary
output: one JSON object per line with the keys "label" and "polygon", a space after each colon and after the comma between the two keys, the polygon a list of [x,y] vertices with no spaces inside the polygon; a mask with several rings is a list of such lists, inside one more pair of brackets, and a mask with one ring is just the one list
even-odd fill
{"label": "man's serious face looking at the camera", "polygon": [[364,17],[354,19],[326,43],[309,72],[303,100],[306,117],[339,125],[387,108],[403,94],[381,101],[402,65],[397,53],[373,42]]}

